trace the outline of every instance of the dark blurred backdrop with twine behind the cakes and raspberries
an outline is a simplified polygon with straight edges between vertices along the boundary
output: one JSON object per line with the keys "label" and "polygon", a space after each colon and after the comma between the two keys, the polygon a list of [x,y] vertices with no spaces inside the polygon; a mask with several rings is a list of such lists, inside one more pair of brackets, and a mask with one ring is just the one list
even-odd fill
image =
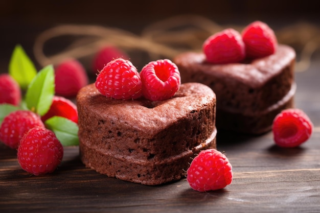
{"label": "dark blurred backdrop with twine behind the cakes and raspberries", "polygon": [[297,53],[296,107],[320,123],[320,1],[304,0],[55,0],[0,2],[0,73],[7,73],[12,51],[21,44],[40,70],[68,57],[82,62],[94,81],[93,57],[115,45],[141,70],[160,58],[200,51],[203,41],[227,27],[241,31],[261,20],[279,43]]}

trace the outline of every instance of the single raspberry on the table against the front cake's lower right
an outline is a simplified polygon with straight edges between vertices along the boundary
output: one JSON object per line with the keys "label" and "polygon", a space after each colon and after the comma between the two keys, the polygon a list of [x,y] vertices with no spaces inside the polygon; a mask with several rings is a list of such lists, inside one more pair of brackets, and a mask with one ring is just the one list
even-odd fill
{"label": "single raspberry on the table against the front cake's lower right", "polygon": [[215,150],[202,150],[191,162],[187,181],[199,192],[224,188],[232,182],[232,165],[224,154]]}

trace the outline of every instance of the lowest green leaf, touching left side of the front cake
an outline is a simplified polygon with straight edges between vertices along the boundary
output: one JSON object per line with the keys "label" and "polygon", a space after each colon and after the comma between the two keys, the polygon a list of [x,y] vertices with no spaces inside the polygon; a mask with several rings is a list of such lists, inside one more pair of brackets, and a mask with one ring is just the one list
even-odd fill
{"label": "lowest green leaf, touching left side of the front cake", "polygon": [[78,125],[65,117],[53,116],[44,122],[45,126],[52,130],[63,146],[78,146]]}

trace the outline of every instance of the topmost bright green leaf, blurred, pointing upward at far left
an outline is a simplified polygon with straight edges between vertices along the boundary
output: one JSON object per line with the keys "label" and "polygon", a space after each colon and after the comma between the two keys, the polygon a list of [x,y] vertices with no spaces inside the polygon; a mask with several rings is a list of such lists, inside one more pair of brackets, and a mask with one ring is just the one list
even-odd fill
{"label": "topmost bright green leaf, blurred, pointing upward at far left", "polygon": [[32,79],[37,75],[37,69],[22,46],[17,44],[9,62],[9,74],[22,90],[26,90]]}

